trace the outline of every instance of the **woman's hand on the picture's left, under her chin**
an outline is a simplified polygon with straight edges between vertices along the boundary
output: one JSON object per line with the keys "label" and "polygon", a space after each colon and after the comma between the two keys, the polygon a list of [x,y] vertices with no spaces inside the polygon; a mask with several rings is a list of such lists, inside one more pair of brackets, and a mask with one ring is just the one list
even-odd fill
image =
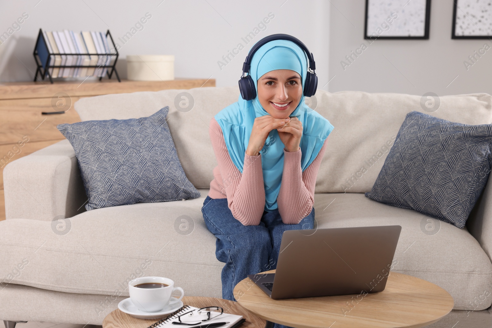
{"label": "woman's hand on the picture's left, under her chin", "polygon": [[246,155],[259,155],[260,150],[265,146],[265,141],[267,140],[270,131],[282,127],[288,121],[289,119],[275,119],[271,115],[264,115],[254,119],[253,128],[251,129],[251,135],[249,136],[249,142],[246,148]]}

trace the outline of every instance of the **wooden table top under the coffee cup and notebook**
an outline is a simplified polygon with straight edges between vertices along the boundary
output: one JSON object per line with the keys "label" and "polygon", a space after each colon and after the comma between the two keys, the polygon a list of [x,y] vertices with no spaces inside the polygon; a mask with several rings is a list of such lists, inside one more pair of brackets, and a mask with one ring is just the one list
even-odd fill
{"label": "wooden table top under the coffee cup and notebook", "polygon": [[[247,311],[238,302],[232,300],[213,298],[213,297],[195,297],[185,296],[183,299],[184,305],[194,307],[205,306],[220,306],[224,309],[224,313],[231,313],[242,315],[246,322],[241,325],[241,328],[264,328],[266,321],[258,318],[254,314]],[[120,309],[116,309],[108,314],[102,321],[103,328],[147,328],[158,321],[160,318],[155,319],[139,319],[132,317],[129,314],[122,312]]]}

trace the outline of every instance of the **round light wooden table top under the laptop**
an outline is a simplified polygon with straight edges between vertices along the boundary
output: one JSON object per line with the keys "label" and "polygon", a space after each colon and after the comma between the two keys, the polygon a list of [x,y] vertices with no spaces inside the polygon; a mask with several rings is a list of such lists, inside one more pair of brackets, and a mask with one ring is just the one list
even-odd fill
{"label": "round light wooden table top under the laptop", "polygon": [[386,288],[377,293],[272,299],[246,278],[234,287],[234,295],[258,317],[295,328],[418,328],[438,321],[454,306],[441,287],[397,272],[390,272]]}

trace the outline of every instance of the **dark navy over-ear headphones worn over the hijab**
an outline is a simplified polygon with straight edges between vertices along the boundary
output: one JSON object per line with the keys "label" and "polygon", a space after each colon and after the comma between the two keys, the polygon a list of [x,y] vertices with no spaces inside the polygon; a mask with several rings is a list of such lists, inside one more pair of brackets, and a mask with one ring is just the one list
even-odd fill
{"label": "dark navy over-ear headphones worn over the hijab", "polygon": [[[316,76],[316,73],[314,73],[314,70],[316,69],[316,63],[314,62],[314,57],[312,56],[312,53],[309,52],[304,43],[302,43],[298,38],[293,37],[292,35],[272,34],[258,41],[253,46],[253,48],[251,48],[245,62],[243,63],[243,76],[241,76],[241,79],[239,80],[239,90],[241,91],[241,96],[243,97],[243,99],[251,100],[256,97],[256,82],[253,81],[253,79],[249,75],[251,59],[253,58],[254,53],[265,43],[274,40],[292,41],[304,50],[309,60],[309,68],[312,69],[312,72],[307,71],[306,74],[306,82],[304,83],[304,95],[306,97],[312,96],[314,93],[316,93],[316,89],[318,87],[318,77]],[[247,73],[247,76],[245,76],[245,73]]]}

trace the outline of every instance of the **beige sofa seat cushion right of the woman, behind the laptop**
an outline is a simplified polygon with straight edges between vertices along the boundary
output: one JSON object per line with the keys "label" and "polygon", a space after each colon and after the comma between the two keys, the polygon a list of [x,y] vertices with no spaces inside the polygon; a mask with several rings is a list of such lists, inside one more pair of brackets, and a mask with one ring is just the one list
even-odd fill
{"label": "beige sofa seat cushion right of the woman, behind the laptop", "polygon": [[[400,225],[393,271],[430,281],[455,300],[454,309],[492,304],[492,263],[466,230],[413,209],[374,202],[362,193],[315,194],[318,228]],[[480,299],[480,301],[477,301]]]}

